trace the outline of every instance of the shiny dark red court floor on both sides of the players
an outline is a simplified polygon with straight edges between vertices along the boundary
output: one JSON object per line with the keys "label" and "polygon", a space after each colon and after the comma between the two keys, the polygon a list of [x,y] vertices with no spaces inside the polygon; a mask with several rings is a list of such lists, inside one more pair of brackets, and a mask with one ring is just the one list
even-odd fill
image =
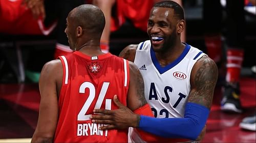
{"label": "shiny dark red court floor on both sides of the players", "polygon": [[[255,78],[241,79],[244,112],[230,114],[220,110],[221,86],[217,85],[202,142],[256,142],[256,132],[239,128],[241,120],[255,110],[255,87]],[[37,83],[0,84],[0,142],[30,142],[39,101]]]}

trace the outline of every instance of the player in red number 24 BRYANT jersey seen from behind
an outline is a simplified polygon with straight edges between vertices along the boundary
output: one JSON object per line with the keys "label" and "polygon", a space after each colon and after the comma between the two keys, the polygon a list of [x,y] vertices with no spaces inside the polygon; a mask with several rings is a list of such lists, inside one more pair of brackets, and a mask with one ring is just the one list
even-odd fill
{"label": "player in red number 24 BRYANT jersey seen from behind", "polygon": [[117,109],[114,95],[131,110],[152,115],[135,64],[100,50],[104,25],[104,15],[94,5],[69,13],[65,33],[74,52],[42,68],[39,117],[31,142],[127,142],[127,129],[98,130],[104,125],[90,119],[95,108]]}

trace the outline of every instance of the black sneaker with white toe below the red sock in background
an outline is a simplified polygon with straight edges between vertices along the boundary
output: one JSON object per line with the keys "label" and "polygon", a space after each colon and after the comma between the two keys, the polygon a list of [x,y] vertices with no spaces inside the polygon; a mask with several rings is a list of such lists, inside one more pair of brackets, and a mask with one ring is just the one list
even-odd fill
{"label": "black sneaker with white toe below the red sock in background", "polygon": [[239,83],[226,83],[221,101],[221,110],[233,113],[243,112]]}

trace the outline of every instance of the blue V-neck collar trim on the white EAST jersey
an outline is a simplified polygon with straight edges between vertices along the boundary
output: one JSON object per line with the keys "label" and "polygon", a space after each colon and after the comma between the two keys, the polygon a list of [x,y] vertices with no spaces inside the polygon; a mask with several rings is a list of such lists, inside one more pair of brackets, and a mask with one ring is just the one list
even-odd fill
{"label": "blue V-neck collar trim on the white EAST jersey", "polygon": [[179,58],[177,58],[174,62],[170,63],[169,65],[167,65],[165,67],[162,67],[159,64],[159,62],[157,61],[156,53],[153,50],[152,45],[151,45],[151,49],[150,49],[151,60],[160,74],[163,74],[164,72],[168,71],[169,69],[172,69],[174,66],[179,64],[182,59],[184,59],[184,57],[186,56],[186,54],[188,53],[188,51],[190,49],[190,45],[188,45],[186,43],[184,43],[184,44],[186,45],[185,49],[183,50],[183,52],[181,53]]}

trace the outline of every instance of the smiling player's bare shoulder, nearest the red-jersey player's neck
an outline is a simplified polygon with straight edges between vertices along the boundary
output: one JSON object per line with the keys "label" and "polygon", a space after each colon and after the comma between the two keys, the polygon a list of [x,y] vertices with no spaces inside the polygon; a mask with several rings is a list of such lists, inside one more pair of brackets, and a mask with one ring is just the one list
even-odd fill
{"label": "smiling player's bare shoulder, nearest the red-jersey player's neck", "polygon": [[128,45],[120,52],[119,56],[126,60],[134,62],[137,47],[138,44]]}

